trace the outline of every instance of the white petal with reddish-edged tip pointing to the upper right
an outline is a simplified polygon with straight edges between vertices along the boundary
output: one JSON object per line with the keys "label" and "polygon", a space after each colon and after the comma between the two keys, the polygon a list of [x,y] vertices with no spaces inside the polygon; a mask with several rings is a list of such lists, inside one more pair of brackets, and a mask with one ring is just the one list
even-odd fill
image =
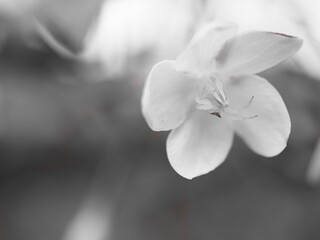
{"label": "white petal with reddish-edged tip pointing to the upper right", "polygon": [[256,74],[293,55],[302,40],[272,32],[248,32],[230,39],[217,56],[222,72]]}

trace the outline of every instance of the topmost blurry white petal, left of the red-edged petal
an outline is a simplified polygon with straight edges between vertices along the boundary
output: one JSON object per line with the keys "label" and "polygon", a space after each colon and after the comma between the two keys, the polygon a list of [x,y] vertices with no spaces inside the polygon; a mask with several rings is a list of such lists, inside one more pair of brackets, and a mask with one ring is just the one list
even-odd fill
{"label": "topmost blurry white petal, left of the red-edged petal", "polygon": [[203,25],[178,56],[176,70],[201,73],[215,66],[215,57],[224,43],[236,34],[237,25],[215,21]]}

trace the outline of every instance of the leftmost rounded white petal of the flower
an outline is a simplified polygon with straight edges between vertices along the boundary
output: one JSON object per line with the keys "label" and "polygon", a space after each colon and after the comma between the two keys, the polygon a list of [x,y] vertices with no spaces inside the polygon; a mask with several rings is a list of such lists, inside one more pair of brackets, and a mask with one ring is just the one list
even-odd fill
{"label": "leftmost rounded white petal of the flower", "polygon": [[156,64],[142,95],[143,115],[154,131],[167,131],[185,120],[195,101],[196,81],[173,69],[174,61]]}

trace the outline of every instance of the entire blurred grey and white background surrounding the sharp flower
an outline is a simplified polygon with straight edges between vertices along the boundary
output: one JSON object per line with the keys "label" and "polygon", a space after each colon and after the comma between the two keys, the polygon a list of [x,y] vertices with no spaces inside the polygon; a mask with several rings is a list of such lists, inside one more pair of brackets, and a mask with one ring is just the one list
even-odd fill
{"label": "entire blurred grey and white background surrounding the sharp flower", "polygon": [[[0,0],[0,239],[319,240],[319,5]],[[304,39],[261,74],[292,133],[270,159],[236,138],[220,167],[189,181],[140,97],[152,65],[215,19]]]}

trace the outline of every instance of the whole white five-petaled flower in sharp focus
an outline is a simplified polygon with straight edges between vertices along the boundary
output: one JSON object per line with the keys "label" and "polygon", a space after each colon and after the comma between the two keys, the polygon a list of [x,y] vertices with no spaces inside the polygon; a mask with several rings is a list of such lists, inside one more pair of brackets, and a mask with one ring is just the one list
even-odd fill
{"label": "whole white five-petaled flower in sharp focus", "polygon": [[172,130],[167,154],[185,178],[208,173],[226,158],[236,132],[256,153],[271,157],[285,147],[291,130],[277,90],[254,74],[294,54],[297,37],[237,26],[203,26],[175,61],[156,64],[147,79],[143,115],[154,131]]}

